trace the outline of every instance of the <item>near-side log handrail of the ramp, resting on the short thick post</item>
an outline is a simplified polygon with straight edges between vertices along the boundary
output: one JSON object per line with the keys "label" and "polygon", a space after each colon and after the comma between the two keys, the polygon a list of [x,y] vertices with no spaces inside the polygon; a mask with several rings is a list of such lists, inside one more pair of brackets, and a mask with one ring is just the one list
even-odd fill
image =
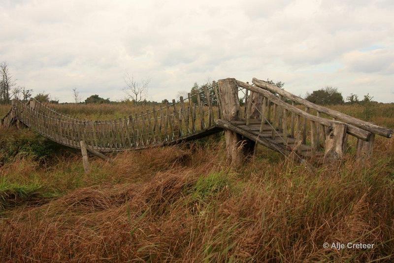
{"label": "near-side log handrail of the ramp, resting on the short thick post", "polygon": [[[273,95],[272,93],[270,93],[269,91],[266,91],[264,89],[258,88],[256,86],[252,86],[250,84],[247,84],[247,83],[239,81],[239,80],[236,80],[236,83],[238,86],[248,89],[248,90],[251,90],[256,93],[260,93],[263,96],[265,96],[266,98],[268,98],[270,101],[274,102],[275,104],[280,105],[280,106],[286,108],[287,110],[289,110],[291,112],[295,112],[296,114],[301,115],[301,116],[303,116],[309,120],[312,120],[314,122],[318,122],[318,123],[323,124],[325,126],[330,126],[333,123],[338,123],[338,124],[342,123],[342,122],[328,120],[326,118],[322,118],[322,117],[318,117],[318,116],[309,114],[303,110],[298,109],[297,107],[295,107],[289,103],[286,103],[285,101],[283,101],[281,99],[278,99],[275,95]],[[365,140],[365,141],[368,141],[371,134],[372,134],[371,132],[364,131],[364,130],[354,127],[352,125],[347,125],[347,127],[348,127],[347,132],[349,134],[351,134],[357,138],[360,138],[362,140]]]}

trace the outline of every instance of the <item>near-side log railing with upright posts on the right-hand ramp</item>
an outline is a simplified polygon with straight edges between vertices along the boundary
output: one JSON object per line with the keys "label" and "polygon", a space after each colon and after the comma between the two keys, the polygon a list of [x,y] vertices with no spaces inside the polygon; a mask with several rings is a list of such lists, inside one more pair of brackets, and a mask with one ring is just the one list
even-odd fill
{"label": "near-side log railing with upright posts on the right-hand ramp", "polygon": [[[368,141],[371,133],[358,127],[336,120],[329,120],[319,115],[315,116],[296,107],[295,102],[285,99],[283,95],[275,95],[255,85],[236,81],[237,85],[248,91],[245,103],[245,121],[249,125],[251,119],[261,120],[260,132],[265,124],[271,125],[272,138],[282,138],[285,145],[310,145],[314,154],[319,151],[327,155],[333,147],[329,137],[334,134],[337,142],[341,141],[342,153],[346,148],[346,133]],[[246,92],[245,92],[246,94]],[[289,140],[295,139],[295,140]],[[299,151],[301,149],[298,149]],[[337,151],[338,153],[338,151]]]}

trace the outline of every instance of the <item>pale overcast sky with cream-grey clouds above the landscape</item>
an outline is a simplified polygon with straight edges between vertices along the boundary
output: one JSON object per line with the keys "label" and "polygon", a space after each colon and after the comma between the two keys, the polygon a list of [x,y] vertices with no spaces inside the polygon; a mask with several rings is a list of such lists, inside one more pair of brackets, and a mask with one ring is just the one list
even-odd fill
{"label": "pale overcast sky with cream-grey clouds above the landscape", "polygon": [[326,86],[394,102],[393,0],[0,0],[0,61],[17,85],[72,101],[173,99],[209,78]]}

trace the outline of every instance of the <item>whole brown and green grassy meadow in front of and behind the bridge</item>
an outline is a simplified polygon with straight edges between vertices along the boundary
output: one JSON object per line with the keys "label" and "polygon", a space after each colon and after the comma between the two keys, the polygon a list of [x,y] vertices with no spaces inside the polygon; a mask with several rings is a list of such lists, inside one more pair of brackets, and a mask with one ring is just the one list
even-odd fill
{"label": "whole brown and green grassy meadow in front of and behind the bridge", "polygon": [[[126,116],[131,104],[53,104],[81,119]],[[394,104],[334,105],[394,128]],[[0,116],[9,110],[0,105]],[[222,133],[113,154],[113,164],[29,129],[0,128],[1,261],[392,261],[394,139],[371,160],[297,163],[259,146],[226,163]],[[370,249],[324,248],[333,242]]]}

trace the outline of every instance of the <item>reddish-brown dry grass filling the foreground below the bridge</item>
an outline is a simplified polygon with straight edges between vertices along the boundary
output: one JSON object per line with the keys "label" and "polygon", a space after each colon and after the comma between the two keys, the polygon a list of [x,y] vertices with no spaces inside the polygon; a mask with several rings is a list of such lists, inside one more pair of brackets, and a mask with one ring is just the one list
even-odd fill
{"label": "reddish-brown dry grass filling the foreground below the bridge", "polygon": [[[394,154],[393,139],[377,144],[375,155]],[[391,158],[360,164],[348,156],[340,167],[255,160],[235,171],[223,153],[219,144],[123,153],[113,166],[95,161],[112,179],[3,214],[0,255],[82,262],[392,257]],[[375,247],[337,251],[323,249],[326,241]]]}

